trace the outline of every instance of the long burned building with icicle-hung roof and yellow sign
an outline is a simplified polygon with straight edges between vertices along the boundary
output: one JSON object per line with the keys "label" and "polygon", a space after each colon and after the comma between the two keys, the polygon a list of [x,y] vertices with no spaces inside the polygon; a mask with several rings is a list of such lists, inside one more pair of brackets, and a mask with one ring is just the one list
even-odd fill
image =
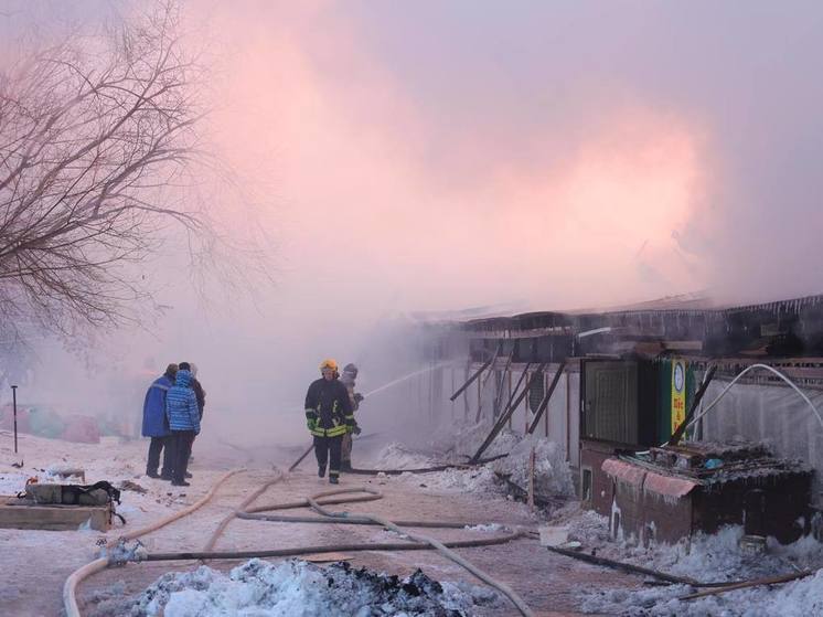
{"label": "long burned building with icicle-hung roof and yellow sign", "polygon": [[[810,403],[816,406],[823,398],[823,296],[734,307],[676,297],[616,310],[483,317],[429,328],[439,332],[432,357],[450,360],[451,383],[464,384],[452,389],[458,396],[450,413],[554,440],[565,451],[581,500],[602,513],[610,515],[614,500],[622,499],[620,482],[643,494],[653,493],[653,486],[674,493],[691,486],[683,494],[660,493],[664,504],[674,497],[683,501],[688,533],[742,522],[746,493],[762,489],[757,499],[773,500],[779,490],[768,486],[772,480],[797,493],[785,517],[798,519],[810,503],[821,503],[821,485],[812,472],[823,470],[823,419]],[[755,364],[785,375],[809,401],[768,371],[738,377]],[[701,444],[719,444],[716,449],[730,457],[716,457],[726,469],[703,469],[707,474],[702,475],[665,466],[660,446],[690,412],[699,414],[718,397],[687,433],[687,447],[696,448],[696,461]],[[741,440],[766,449],[740,455],[736,446],[723,446]],[[671,447],[663,450],[685,456]],[[756,464],[758,474],[729,479],[731,467],[740,471]],[[632,485],[634,477],[644,480]],[[718,492],[724,491],[736,506],[720,515],[726,498]],[[652,499],[634,509],[653,509]],[[770,506],[763,508],[769,518],[783,520]],[[638,534],[650,522],[629,518],[637,521],[630,526]],[[626,515],[622,522],[628,524]],[[667,539],[684,534],[685,529],[662,532]]]}

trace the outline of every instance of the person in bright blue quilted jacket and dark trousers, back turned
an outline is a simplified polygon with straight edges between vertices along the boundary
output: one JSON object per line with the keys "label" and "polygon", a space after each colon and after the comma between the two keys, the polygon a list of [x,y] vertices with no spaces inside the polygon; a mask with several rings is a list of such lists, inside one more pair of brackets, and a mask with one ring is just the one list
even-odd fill
{"label": "person in bright blue quilted jacket and dark trousers, back turned", "polygon": [[174,385],[165,396],[165,415],[174,442],[174,467],[171,483],[175,487],[188,487],[185,472],[189,456],[192,451],[194,436],[200,433],[200,408],[197,397],[191,389],[191,371],[178,371]]}

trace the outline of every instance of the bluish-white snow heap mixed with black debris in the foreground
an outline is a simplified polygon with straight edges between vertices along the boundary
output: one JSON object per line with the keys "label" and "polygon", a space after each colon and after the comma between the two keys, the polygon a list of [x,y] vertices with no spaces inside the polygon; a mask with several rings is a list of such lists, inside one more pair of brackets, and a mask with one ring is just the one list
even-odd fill
{"label": "bluish-white snow heap mixed with black debris in the foreground", "polygon": [[400,579],[354,570],[345,562],[321,568],[296,560],[279,564],[252,560],[228,575],[207,566],[164,574],[130,602],[129,607],[109,605],[108,611],[131,617],[439,617],[471,615],[474,606],[493,606],[501,600],[495,592],[463,583],[438,583],[419,570]]}

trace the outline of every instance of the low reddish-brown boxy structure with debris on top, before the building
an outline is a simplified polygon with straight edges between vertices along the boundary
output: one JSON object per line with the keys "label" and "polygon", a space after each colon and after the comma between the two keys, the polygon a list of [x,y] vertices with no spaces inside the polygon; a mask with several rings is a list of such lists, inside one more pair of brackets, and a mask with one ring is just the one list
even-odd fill
{"label": "low reddish-brown boxy structure with debris on top, before the building", "polygon": [[674,543],[741,524],[789,543],[808,531],[811,469],[762,446],[652,448],[644,458],[612,456],[595,467],[606,453],[587,447],[584,460],[594,472],[590,506],[609,517],[616,538]]}

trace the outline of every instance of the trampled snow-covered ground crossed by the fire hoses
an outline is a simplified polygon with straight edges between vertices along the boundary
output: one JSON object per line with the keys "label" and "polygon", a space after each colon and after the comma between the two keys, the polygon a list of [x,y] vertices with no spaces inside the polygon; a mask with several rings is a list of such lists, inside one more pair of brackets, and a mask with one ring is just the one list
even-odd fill
{"label": "trampled snow-covered ground crossed by the fire hoses", "polygon": [[[477,439],[481,439],[484,437],[484,428],[475,429],[475,434]],[[505,483],[499,480],[494,471],[509,474],[516,481],[527,481],[525,474],[528,469],[532,448],[534,448],[535,485],[538,492],[547,491],[551,494],[560,496],[569,490],[568,469],[554,445],[544,439],[517,439],[515,435],[509,433],[504,433],[499,439],[500,443],[495,442],[489,454],[493,455],[507,449],[512,455],[507,459],[500,459],[478,468],[455,468],[440,472],[404,474],[377,478],[344,475],[342,482],[352,487],[371,486],[384,492],[385,499],[367,506],[359,506],[356,508],[359,511],[377,512],[394,519],[409,517],[443,519],[466,521],[469,524],[469,529],[430,532],[442,539],[458,540],[467,535],[471,538],[477,534],[499,533],[498,525],[501,523],[509,528],[514,525],[535,529],[535,524],[545,520],[546,514],[535,512],[525,504],[511,502],[505,494]],[[60,476],[55,472],[60,468],[81,467],[85,471],[87,483],[105,479],[115,485],[121,485],[129,480],[147,490],[146,493],[125,491],[124,503],[118,508],[128,520],[126,529],[137,529],[199,499],[228,466],[237,467],[239,462],[253,467],[248,472],[235,476],[218,491],[207,508],[188,518],[185,523],[171,525],[169,529],[160,530],[143,539],[149,552],[189,550],[202,546],[218,521],[256,486],[270,479],[275,474],[270,466],[270,457],[277,455],[275,450],[270,450],[269,454],[261,450],[260,456],[255,458],[255,465],[249,465],[252,462],[249,457],[245,457],[237,449],[224,447],[222,450],[210,454],[206,444],[199,443],[195,446],[196,461],[192,467],[194,474],[192,486],[182,491],[173,491],[168,482],[142,476],[147,445],[146,442],[120,443],[109,438],[104,438],[103,443],[97,445],[68,444],[26,436],[21,442],[21,451],[25,458],[24,466],[18,469],[12,467],[12,462],[20,461],[23,456],[13,456],[9,445],[2,443],[0,444],[0,487],[3,490],[0,492],[13,493],[22,490],[25,479],[31,476],[38,476],[41,481],[58,479]],[[449,456],[442,450],[416,451],[399,444],[388,444],[383,447],[376,444],[374,450],[367,457],[368,453],[365,448],[359,450],[355,446],[355,465],[408,469],[441,464]],[[464,462],[466,458],[457,455],[470,450],[471,448],[467,447],[460,453],[453,450],[451,455],[460,462]],[[291,460],[292,454],[284,456]],[[242,460],[238,461],[237,458]],[[276,462],[280,468],[284,464],[288,465],[286,460]],[[72,481],[76,481],[76,478]],[[265,501],[289,501],[296,496],[312,494],[327,488],[328,482],[319,480],[310,470],[303,470],[289,476],[286,481],[269,489]],[[551,517],[552,524],[568,528],[569,538],[579,541],[586,551],[597,550],[600,556],[629,561],[699,581],[748,579],[823,565],[822,546],[809,539],[788,547],[780,547],[772,543],[767,555],[752,559],[738,549],[737,541],[741,533],[739,528],[724,530],[716,536],[698,536],[688,546],[643,549],[611,542],[606,519],[592,512],[581,511],[574,501],[568,501],[567,506],[552,512]],[[339,531],[327,529],[325,525],[321,526],[323,529],[318,529],[317,525],[235,521],[221,539],[218,550],[317,545],[339,541],[336,535]],[[11,613],[8,614],[26,614],[23,609],[29,609],[29,614],[57,614],[58,608],[55,607],[60,605],[60,588],[65,577],[76,567],[94,559],[98,540],[116,538],[121,533],[121,529],[118,523],[115,529],[105,534],[0,530],[0,605],[4,608],[11,607],[9,608]],[[396,536],[392,538],[378,528],[346,528],[344,534],[352,542],[397,541]],[[61,547],[61,557],[54,560],[54,546],[57,545]],[[494,572],[502,579],[517,586],[520,593],[528,596],[530,604],[542,610],[584,609],[595,614],[616,615],[751,617],[801,614],[805,616],[823,610],[821,607],[823,577],[821,575],[771,589],[759,587],[684,603],[676,598],[693,589],[684,586],[649,587],[643,585],[642,577],[590,566],[566,556],[548,553],[545,549],[541,549],[534,539],[524,539],[493,549],[472,550],[470,554],[472,560],[477,560],[479,566]],[[21,560],[20,555],[25,555],[25,559]],[[349,557],[357,566],[368,568],[368,574],[361,575],[361,578],[377,581],[380,575],[375,573],[381,572],[410,576],[415,568],[420,567],[432,578],[441,582],[456,582],[457,591],[463,594],[462,596],[457,592],[451,594],[449,584],[442,583],[445,596],[440,598],[441,603],[458,602],[460,598],[462,598],[460,602],[468,602],[467,597],[473,598],[472,602],[478,602],[477,594],[466,588],[466,583],[459,583],[461,579],[467,579],[466,572],[453,564],[445,563],[436,554],[368,552],[348,555],[346,559]],[[138,610],[136,614],[148,615],[148,608],[136,607],[141,606],[140,602],[149,595],[153,594],[152,597],[156,597],[161,594],[162,589],[169,592],[169,600],[163,600],[168,604],[164,609],[165,615],[189,615],[194,614],[195,610],[199,615],[205,616],[244,614],[237,608],[239,605],[232,603],[241,602],[243,598],[254,599],[255,594],[260,593],[261,587],[259,581],[255,579],[256,575],[222,573],[221,568],[227,567],[226,564],[212,564],[212,567],[216,570],[180,572],[181,567],[189,566],[184,564],[167,566],[161,563],[141,564],[114,568],[96,575],[94,583],[82,591],[85,606],[88,608],[84,614],[119,616],[128,615],[135,609]],[[243,567],[239,566],[239,570],[235,568],[235,571],[246,572],[242,570]],[[260,602],[270,602],[270,604],[259,605],[258,603],[258,605],[275,607],[278,606],[277,603],[288,603],[288,598],[291,597],[289,589],[308,585],[308,581],[316,579],[312,577],[316,576],[318,570],[320,568],[313,565],[298,567],[286,563],[267,562],[266,567],[258,574],[265,581],[281,579],[282,583],[278,587],[281,592],[277,592],[271,597],[260,596]],[[329,571],[329,567],[327,566],[324,571]],[[168,574],[158,578],[163,572]],[[336,571],[332,570],[332,572]],[[552,576],[547,577],[546,573],[549,572]],[[340,579],[340,584],[343,584],[343,578]],[[196,581],[201,583],[195,585]],[[301,583],[298,584],[296,581]],[[174,587],[174,585],[178,586]],[[32,598],[28,589],[34,586],[45,592]],[[360,587],[359,589],[362,591]],[[110,603],[115,600],[130,604],[127,610],[105,613],[106,606],[114,606]],[[302,598],[300,602],[308,600]],[[270,615],[295,614],[278,613],[276,608],[258,610],[258,605],[248,604],[248,610],[245,614],[259,615],[260,610]],[[203,606],[211,608],[202,608]],[[256,606],[258,608],[255,608]],[[281,606],[289,605],[282,604]],[[317,609],[319,605],[310,606]],[[346,610],[350,608],[346,607]],[[511,606],[504,603],[501,607],[474,605],[474,607],[460,610],[467,614],[496,617],[510,614],[509,609]],[[20,610],[23,611],[20,613]],[[371,614],[380,614],[374,606],[371,610]],[[329,611],[313,614],[335,615]],[[346,614],[355,615],[356,610]],[[413,614],[410,609],[409,614]]]}

